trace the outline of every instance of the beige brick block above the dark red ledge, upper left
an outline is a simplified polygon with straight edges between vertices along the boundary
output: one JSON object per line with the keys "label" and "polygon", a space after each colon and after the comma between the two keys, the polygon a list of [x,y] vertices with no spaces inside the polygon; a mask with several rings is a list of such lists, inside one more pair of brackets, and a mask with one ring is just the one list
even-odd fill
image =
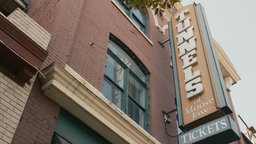
{"label": "beige brick block above the dark red ledge, upper left", "polygon": [[47,49],[51,39],[51,34],[43,29],[21,9],[17,8],[14,10],[7,19],[40,47],[44,50]]}

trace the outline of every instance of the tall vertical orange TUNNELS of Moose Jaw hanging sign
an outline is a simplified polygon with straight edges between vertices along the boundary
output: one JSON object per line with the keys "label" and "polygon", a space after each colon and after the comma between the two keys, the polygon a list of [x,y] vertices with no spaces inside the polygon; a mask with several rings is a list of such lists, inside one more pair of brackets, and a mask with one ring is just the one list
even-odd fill
{"label": "tall vertical orange TUNNELS of Moose Jaw hanging sign", "polygon": [[179,127],[191,130],[232,113],[201,4],[174,14],[169,34]]}

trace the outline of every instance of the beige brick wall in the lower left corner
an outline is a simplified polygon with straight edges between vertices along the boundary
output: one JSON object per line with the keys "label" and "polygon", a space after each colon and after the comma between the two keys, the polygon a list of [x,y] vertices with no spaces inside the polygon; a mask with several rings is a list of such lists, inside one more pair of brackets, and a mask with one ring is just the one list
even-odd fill
{"label": "beige brick wall in the lower left corner", "polygon": [[0,144],[11,143],[34,80],[21,87],[0,72]]}

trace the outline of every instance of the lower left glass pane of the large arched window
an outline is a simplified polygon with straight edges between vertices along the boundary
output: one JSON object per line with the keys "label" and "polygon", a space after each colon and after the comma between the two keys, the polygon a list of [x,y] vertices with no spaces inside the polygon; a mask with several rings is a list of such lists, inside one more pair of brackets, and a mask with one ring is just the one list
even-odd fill
{"label": "lower left glass pane of the large arched window", "polygon": [[102,94],[118,108],[120,108],[121,91],[118,90],[113,84],[108,82],[105,78],[103,79]]}

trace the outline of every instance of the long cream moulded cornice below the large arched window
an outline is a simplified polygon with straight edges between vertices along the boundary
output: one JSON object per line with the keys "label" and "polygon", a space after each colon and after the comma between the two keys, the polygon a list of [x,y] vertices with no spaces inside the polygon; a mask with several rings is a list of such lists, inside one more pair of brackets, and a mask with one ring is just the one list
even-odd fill
{"label": "long cream moulded cornice below the large arched window", "polygon": [[68,65],[53,63],[42,73],[43,93],[110,142],[160,143]]}

